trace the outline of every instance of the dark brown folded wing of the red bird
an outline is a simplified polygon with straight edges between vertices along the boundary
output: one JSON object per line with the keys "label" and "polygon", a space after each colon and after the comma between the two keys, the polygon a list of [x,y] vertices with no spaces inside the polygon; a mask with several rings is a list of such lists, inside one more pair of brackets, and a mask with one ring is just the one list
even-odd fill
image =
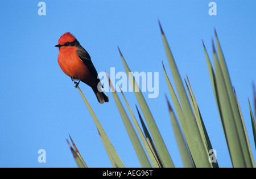
{"label": "dark brown folded wing of the red bird", "polygon": [[97,82],[100,82],[100,79],[98,79],[98,73],[92,63],[92,60],[90,59],[89,53],[84,48],[82,48],[81,45],[79,46],[79,48],[77,48],[76,53],[77,56],[79,56],[79,58],[82,60],[82,62],[84,62],[84,64],[88,67],[93,76],[95,76]]}

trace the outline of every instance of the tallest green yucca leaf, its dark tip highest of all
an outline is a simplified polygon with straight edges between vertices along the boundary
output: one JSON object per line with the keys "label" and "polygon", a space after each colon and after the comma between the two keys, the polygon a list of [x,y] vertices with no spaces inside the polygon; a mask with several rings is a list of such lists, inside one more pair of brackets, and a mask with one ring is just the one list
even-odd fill
{"label": "tallest green yucca leaf, its dark tip highest of all", "polygon": [[190,126],[189,130],[191,130],[191,134],[193,134],[193,136],[191,137],[191,140],[192,140],[192,143],[196,146],[196,148],[195,147],[189,148],[189,150],[191,150],[192,158],[195,162],[196,167],[212,167],[212,165],[208,161],[207,148],[205,148],[203,140],[201,139],[200,132],[197,127],[195,117],[193,116],[193,112],[188,100],[187,93],[185,92],[185,88],[180,78],[179,71],[177,69],[176,63],[174,61],[174,57],[172,56],[171,49],[168,45],[166,36],[164,35],[160,22],[159,22],[159,26],[162,33],[164,49],[166,50],[168,62],[171,68],[172,77],[174,78],[180,104],[182,106],[185,119],[187,120],[187,123],[188,123],[187,126]]}

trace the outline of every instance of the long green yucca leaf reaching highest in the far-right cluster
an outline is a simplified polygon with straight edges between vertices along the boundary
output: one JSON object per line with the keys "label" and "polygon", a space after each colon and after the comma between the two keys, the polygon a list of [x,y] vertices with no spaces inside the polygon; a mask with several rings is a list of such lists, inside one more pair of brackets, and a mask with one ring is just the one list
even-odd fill
{"label": "long green yucca leaf reaching highest in the far-right cluster", "polygon": [[232,83],[230,80],[228,67],[226,66],[226,61],[224,58],[224,54],[222,53],[222,49],[221,49],[220,42],[218,40],[216,31],[215,31],[215,36],[216,36],[216,44],[217,44],[217,50],[218,50],[218,59],[219,59],[219,63],[220,63],[220,69],[221,69],[221,72],[222,72],[222,75],[224,78],[224,84],[226,86],[226,91],[228,93],[228,99],[230,101],[229,103],[232,107],[234,121],[236,122],[238,137],[239,137],[239,141],[241,143],[241,148],[242,148],[242,155],[245,160],[246,167],[253,167],[253,163],[251,161],[250,152],[249,152],[250,146],[248,146],[248,144],[246,142],[246,136],[245,136],[246,134],[245,134],[244,128],[242,126],[242,120],[241,120],[241,116],[240,116],[240,113],[238,110],[237,101],[234,97],[234,91],[233,91],[233,86],[232,86]]}

